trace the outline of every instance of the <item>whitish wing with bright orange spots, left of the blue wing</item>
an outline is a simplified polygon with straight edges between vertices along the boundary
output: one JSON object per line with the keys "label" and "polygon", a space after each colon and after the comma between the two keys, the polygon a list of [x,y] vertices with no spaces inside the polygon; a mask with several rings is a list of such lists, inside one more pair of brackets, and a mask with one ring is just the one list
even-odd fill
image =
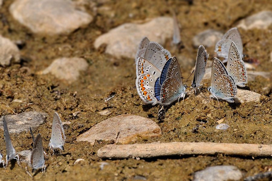
{"label": "whitish wing with bright orange spots, left of the blue wing", "polygon": [[160,71],[142,57],[138,58],[137,65],[139,75],[136,78],[136,88],[140,98],[146,104],[157,104],[154,88],[156,80],[160,77]]}

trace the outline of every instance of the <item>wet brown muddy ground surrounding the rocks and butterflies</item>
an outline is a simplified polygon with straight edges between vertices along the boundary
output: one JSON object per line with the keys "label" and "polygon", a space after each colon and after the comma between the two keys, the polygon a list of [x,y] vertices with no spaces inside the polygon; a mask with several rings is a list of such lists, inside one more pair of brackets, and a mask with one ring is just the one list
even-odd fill
{"label": "wet brown muddy ground surrounding the rocks and butterflies", "polygon": [[[76,0],[75,0],[76,1]],[[245,89],[262,94],[258,103],[228,104],[211,100],[209,104],[202,98],[192,96],[176,102],[169,107],[165,119],[157,120],[159,106],[144,105],[135,87],[134,59],[117,59],[97,51],[93,42],[112,28],[127,22],[136,22],[158,16],[172,17],[177,12],[182,27],[181,39],[185,46],[177,51],[170,46],[171,39],[164,45],[172,55],[183,56],[180,61],[183,77],[189,77],[195,64],[197,48],[192,38],[206,29],[226,32],[242,18],[254,13],[272,10],[269,0],[196,0],[190,5],[187,1],[79,1],[86,11],[94,16],[87,27],[79,28],[69,35],[45,36],[31,33],[30,30],[15,21],[8,7],[12,0],[6,0],[0,9],[0,33],[13,41],[20,41],[21,63],[10,67],[0,67],[0,116],[27,111],[48,113],[46,122],[34,131],[41,133],[47,165],[45,173],[37,172],[34,180],[132,180],[134,176],[144,176],[147,180],[192,180],[193,173],[208,166],[234,165],[251,176],[272,169],[272,158],[238,156],[176,156],[146,160],[101,160],[97,150],[112,141],[77,142],[79,134],[92,126],[120,114],[135,114],[154,120],[162,130],[160,138],[139,139],[133,143],[160,142],[215,142],[215,143],[256,143],[272,142],[272,97],[271,80],[257,77],[248,82]],[[97,12],[93,12],[96,8]],[[105,10],[107,9],[107,10]],[[130,17],[129,14],[133,16]],[[165,25],[164,25],[165,26]],[[167,27],[164,27],[167,28]],[[256,71],[271,72],[270,52],[272,47],[272,26],[266,30],[239,29],[244,44],[244,53],[260,61]],[[207,48],[209,60],[216,55],[214,47]],[[66,84],[52,75],[38,75],[55,58],[82,57],[89,68],[81,74],[78,81]],[[192,79],[190,77],[190,79]],[[209,81],[203,87],[209,86]],[[190,84],[189,84],[190,85]],[[209,97],[208,93],[203,93]],[[104,98],[114,95],[107,102]],[[23,103],[12,102],[14,99]],[[31,103],[31,104],[30,104]],[[102,116],[98,112],[108,109],[112,113]],[[53,114],[57,111],[65,125],[65,151],[50,155],[47,145],[51,135]],[[73,113],[78,113],[73,116]],[[218,120],[224,119],[230,127],[226,131],[216,130]],[[193,133],[196,125],[199,131]],[[31,150],[33,146],[30,132],[12,134],[11,141],[17,152]],[[212,148],[211,148],[212,149]],[[3,131],[0,130],[0,152],[5,156]],[[86,161],[74,165],[75,160]],[[106,162],[100,169],[101,162]],[[19,167],[13,160],[6,169],[0,167],[0,180],[28,180],[25,163]],[[31,168],[28,168],[31,171]],[[265,179],[264,179],[265,180]]]}

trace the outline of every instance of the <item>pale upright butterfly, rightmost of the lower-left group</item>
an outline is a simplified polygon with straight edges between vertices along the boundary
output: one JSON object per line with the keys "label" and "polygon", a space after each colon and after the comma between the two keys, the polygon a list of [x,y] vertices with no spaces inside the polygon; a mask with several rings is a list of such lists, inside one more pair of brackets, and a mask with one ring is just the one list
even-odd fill
{"label": "pale upright butterfly, rightmost of the lower-left group", "polygon": [[53,116],[53,124],[52,124],[52,133],[50,138],[50,149],[59,148],[60,150],[64,150],[63,145],[65,144],[65,134],[62,126],[62,122],[60,120],[60,116],[55,112]]}

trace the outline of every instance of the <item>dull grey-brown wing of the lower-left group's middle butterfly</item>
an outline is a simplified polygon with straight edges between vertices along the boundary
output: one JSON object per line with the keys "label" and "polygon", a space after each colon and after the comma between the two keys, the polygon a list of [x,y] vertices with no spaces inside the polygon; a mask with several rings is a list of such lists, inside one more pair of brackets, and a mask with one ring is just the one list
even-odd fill
{"label": "dull grey-brown wing of the lower-left group's middle butterfly", "polygon": [[44,166],[44,163],[45,163],[44,149],[43,149],[43,143],[42,143],[40,133],[37,135],[35,139],[30,160],[31,160],[31,167],[35,170],[40,169]]}

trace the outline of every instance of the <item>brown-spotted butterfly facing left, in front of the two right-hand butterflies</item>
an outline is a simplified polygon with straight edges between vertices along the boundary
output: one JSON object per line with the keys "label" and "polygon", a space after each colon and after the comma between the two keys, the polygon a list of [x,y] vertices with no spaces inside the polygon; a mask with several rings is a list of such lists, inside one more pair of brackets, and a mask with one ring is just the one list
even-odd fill
{"label": "brown-spotted butterfly facing left, in front of the two right-hand butterflies", "polygon": [[234,103],[237,94],[235,81],[228,75],[225,66],[218,58],[213,58],[212,61],[212,83],[211,87],[208,87],[208,91],[212,94],[211,98]]}

